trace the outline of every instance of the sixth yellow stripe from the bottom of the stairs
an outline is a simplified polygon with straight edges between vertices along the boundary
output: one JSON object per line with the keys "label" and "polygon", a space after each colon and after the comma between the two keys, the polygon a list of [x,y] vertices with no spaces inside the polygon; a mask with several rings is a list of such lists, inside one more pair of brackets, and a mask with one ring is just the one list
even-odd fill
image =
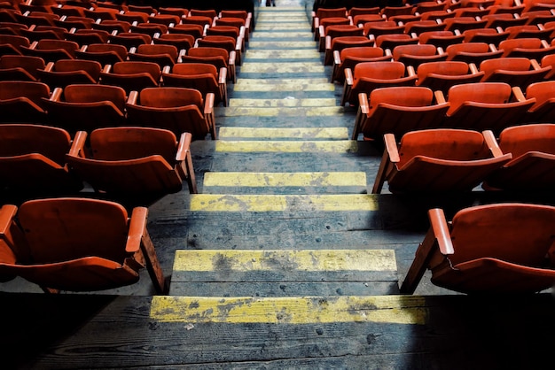
{"label": "sixth yellow stripe from the bottom of the stairs", "polygon": [[347,127],[300,127],[300,128],[274,128],[274,127],[222,127],[219,132],[220,139],[229,138],[260,138],[260,139],[333,139],[348,140]]}

